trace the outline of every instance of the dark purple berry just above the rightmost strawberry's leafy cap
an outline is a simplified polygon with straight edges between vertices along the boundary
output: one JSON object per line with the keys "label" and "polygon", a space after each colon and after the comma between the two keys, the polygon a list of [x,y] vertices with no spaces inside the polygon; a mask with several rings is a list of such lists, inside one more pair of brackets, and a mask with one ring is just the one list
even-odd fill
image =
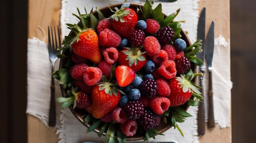
{"label": "dark purple berry just above the rightmost strawberry's leafy cap", "polygon": [[189,59],[185,56],[175,60],[175,65],[178,74],[184,74],[191,66]]}

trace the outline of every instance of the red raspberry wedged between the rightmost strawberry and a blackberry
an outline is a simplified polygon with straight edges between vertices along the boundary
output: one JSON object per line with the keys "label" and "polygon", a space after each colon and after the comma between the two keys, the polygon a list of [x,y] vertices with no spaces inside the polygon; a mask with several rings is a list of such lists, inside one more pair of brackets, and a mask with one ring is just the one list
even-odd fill
{"label": "red raspberry wedged between the rightmost strawberry and a blackberry", "polygon": [[157,93],[159,96],[169,96],[171,93],[170,87],[168,85],[168,83],[166,82],[166,80],[164,79],[158,79],[156,80],[157,82]]}

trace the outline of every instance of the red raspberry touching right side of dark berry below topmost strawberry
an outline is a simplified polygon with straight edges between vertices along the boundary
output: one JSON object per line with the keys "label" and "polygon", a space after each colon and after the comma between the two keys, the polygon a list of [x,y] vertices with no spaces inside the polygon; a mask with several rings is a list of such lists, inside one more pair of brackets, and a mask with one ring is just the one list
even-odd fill
{"label": "red raspberry touching right side of dark berry below topmost strawberry", "polygon": [[155,37],[148,36],[143,40],[143,48],[146,54],[153,56],[154,54],[159,54],[161,46]]}

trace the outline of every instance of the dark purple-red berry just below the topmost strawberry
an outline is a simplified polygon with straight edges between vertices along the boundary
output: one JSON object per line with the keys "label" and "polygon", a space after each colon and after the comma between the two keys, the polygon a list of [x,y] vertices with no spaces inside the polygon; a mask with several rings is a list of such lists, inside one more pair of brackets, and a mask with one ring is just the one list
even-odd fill
{"label": "dark purple-red berry just below the topmost strawberry", "polygon": [[141,46],[143,40],[145,38],[145,32],[140,29],[133,30],[132,35],[130,37],[130,42],[133,46],[139,47]]}

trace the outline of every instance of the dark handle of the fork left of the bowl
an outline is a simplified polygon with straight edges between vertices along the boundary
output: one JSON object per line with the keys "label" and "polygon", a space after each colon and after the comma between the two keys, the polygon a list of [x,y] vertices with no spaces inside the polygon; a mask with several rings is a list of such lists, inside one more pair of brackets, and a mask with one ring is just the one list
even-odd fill
{"label": "dark handle of the fork left of the bowl", "polygon": [[[52,72],[54,71],[54,62],[52,62]],[[54,77],[52,77],[51,85],[51,100],[50,100],[50,111],[49,111],[49,126],[56,126],[56,106],[55,106],[55,86]]]}

